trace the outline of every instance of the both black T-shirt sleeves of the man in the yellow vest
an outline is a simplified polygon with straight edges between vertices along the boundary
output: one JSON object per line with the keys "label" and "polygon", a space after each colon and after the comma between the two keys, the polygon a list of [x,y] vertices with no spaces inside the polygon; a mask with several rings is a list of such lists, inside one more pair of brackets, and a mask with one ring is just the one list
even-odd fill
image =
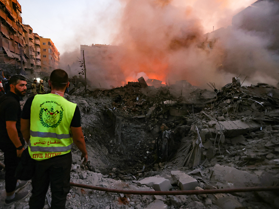
{"label": "both black T-shirt sleeves of the man in the yellow vest", "polygon": [[[22,114],[21,114],[21,118],[22,119],[30,119],[30,116],[31,116],[31,105],[32,105],[32,102],[33,102],[33,99],[34,99],[34,96],[32,97],[29,97],[26,102],[25,102],[25,105],[22,109]],[[74,116],[72,118],[72,121],[71,121],[71,127],[81,127],[81,113],[79,111],[79,108],[78,106],[76,106],[76,109],[75,109],[75,112],[74,112]]]}

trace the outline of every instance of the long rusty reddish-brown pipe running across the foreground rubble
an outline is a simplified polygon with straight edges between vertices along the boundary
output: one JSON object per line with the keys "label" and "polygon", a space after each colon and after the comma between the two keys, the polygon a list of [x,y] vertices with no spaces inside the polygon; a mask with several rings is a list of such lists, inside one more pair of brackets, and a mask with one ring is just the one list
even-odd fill
{"label": "long rusty reddish-brown pipe running across the foreground rubble", "polygon": [[235,193],[235,192],[259,192],[259,191],[278,191],[279,187],[248,187],[248,188],[230,188],[230,189],[210,189],[210,190],[185,190],[185,191],[134,191],[134,190],[119,190],[103,188],[85,184],[77,184],[70,182],[71,186],[98,190],[103,192],[113,192],[121,194],[140,194],[140,195],[185,195],[185,194],[220,194],[220,193]]}

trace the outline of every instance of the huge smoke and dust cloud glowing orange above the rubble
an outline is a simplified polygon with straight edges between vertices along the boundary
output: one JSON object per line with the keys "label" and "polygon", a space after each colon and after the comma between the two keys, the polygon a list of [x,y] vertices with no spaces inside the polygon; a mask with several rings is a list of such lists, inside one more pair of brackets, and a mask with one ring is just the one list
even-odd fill
{"label": "huge smoke and dust cloud glowing orange above the rubble", "polygon": [[[244,11],[253,0],[120,2],[123,11],[116,26],[119,33],[112,37],[114,46],[101,47],[94,56],[85,51],[92,87],[117,87],[141,76],[167,85],[187,80],[202,88],[208,88],[208,82],[220,88],[239,75],[242,81],[247,77],[247,85],[278,83],[276,1],[258,1]],[[70,75],[80,71],[72,54],[80,51],[61,55],[61,66],[71,69]]]}

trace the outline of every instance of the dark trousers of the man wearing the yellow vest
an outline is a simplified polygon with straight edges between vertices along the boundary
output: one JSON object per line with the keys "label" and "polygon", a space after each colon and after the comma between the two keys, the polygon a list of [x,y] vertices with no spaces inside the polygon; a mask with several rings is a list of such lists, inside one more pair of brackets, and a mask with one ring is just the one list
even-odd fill
{"label": "dark trousers of the man wearing the yellow vest", "polygon": [[67,194],[70,191],[71,152],[35,163],[35,175],[31,181],[30,209],[42,209],[44,207],[49,183],[51,209],[65,209]]}

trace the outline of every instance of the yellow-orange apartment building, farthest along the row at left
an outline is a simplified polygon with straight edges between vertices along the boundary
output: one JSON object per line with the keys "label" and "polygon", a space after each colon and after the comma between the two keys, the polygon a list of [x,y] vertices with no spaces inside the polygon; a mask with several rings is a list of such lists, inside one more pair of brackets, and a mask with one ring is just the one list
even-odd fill
{"label": "yellow-orange apartment building, farthest along the row at left", "polygon": [[49,75],[60,63],[60,53],[49,38],[40,37],[42,75]]}

